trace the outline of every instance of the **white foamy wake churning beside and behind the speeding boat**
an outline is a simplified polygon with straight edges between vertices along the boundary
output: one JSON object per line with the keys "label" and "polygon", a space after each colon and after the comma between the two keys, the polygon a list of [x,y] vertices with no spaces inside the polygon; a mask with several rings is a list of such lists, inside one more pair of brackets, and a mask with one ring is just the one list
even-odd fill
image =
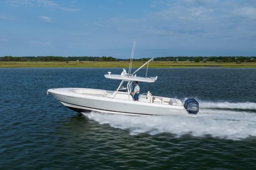
{"label": "white foamy wake churning beside and behind the speeding boat", "polygon": [[241,140],[256,137],[256,103],[201,101],[197,117],[133,117],[124,115],[84,113],[99,124],[129,130],[131,135],[171,133],[176,137],[190,134],[196,137],[210,135],[217,138]]}

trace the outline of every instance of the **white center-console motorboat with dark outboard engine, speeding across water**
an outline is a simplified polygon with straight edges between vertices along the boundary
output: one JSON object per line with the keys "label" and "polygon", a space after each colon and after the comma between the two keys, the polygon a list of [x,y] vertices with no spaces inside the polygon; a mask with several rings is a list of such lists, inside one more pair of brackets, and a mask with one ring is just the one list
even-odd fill
{"label": "white center-console motorboat with dark outboard engine, speeding across water", "polygon": [[[134,49],[133,49],[134,51]],[[102,90],[90,88],[55,88],[48,89],[47,94],[54,96],[66,107],[77,112],[97,111],[108,114],[130,116],[196,116],[199,103],[196,99],[187,99],[184,104],[179,99],[153,95],[150,91],[139,95],[135,101],[132,96],[132,83],[154,83],[158,77],[139,77],[136,73],[154,60],[151,58],[135,72],[131,73],[133,54],[130,59],[129,71],[123,69],[120,75],[107,72],[105,78],[120,80],[116,90]]]}

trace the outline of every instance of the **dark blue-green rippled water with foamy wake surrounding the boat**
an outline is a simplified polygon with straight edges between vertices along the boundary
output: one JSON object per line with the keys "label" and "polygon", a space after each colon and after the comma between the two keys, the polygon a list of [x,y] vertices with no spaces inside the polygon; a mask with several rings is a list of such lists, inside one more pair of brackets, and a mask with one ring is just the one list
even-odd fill
{"label": "dark blue-green rippled water with foamy wake surrounding the boat", "polygon": [[113,90],[107,71],[122,72],[0,69],[0,169],[256,169],[256,69],[150,69],[142,92],[195,97],[197,118],[83,115],[46,95]]}

